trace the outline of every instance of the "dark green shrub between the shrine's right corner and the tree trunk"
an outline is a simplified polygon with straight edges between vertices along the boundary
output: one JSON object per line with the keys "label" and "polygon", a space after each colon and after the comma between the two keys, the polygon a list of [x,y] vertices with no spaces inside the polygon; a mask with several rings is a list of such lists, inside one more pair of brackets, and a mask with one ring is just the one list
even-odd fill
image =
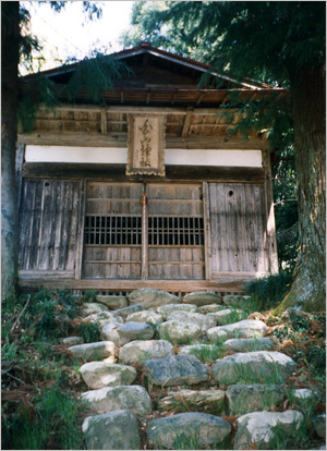
{"label": "dark green shrub between the shrine's right corner and the tree trunk", "polygon": [[249,295],[258,302],[259,309],[265,310],[275,307],[283,300],[291,283],[291,272],[284,271],[251,281],[246,284],[245,290]]}

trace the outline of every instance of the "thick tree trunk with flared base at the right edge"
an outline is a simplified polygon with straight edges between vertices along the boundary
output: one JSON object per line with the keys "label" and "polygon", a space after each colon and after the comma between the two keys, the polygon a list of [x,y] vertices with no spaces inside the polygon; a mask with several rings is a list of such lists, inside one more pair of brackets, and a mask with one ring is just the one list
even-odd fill
{"label": "thick tree trunk with flared base at the right edge", "polygon": [[299,263],[290,293],[276,313],[290,306],[326,310],[326,72],[300,70],[291,77],[296,185]]}

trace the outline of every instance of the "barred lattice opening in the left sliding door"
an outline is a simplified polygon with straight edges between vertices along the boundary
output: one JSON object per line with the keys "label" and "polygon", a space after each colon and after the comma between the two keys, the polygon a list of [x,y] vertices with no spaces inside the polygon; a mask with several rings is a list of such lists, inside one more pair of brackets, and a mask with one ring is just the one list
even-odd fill
{"label": "barred lattice opening in the left sliding door", "polygon": [[130,216],[86,216],[85,244],[141,245],[142,218]]}

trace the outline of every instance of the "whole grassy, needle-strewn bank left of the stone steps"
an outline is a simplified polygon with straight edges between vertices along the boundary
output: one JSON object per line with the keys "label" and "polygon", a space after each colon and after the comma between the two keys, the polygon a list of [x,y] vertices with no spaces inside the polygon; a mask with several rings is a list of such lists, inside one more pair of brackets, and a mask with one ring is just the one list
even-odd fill
{"label": "whole grassy, needle-strewn bank left of the stone steps", "polygon": [[[72,357],[60,339],[76,334],[81,318],[65,290],[2,303],[1,449],[83,449]],[[78,363],[78,367],[81,364]]]}

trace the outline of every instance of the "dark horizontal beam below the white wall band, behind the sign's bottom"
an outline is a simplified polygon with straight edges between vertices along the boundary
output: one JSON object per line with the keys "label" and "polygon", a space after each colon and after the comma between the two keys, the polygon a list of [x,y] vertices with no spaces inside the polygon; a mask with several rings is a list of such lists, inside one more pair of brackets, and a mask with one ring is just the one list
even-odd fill
{"label": "dark horizontal beam below the white wall band, behind the sign's bottom", "polygon": [[215,183],[264,183],[263,168],[166,166],[166,176],[126,175],[125,164],[34,163],[23,166],[25,179],[106,180],[120,182],[209,181]]}

